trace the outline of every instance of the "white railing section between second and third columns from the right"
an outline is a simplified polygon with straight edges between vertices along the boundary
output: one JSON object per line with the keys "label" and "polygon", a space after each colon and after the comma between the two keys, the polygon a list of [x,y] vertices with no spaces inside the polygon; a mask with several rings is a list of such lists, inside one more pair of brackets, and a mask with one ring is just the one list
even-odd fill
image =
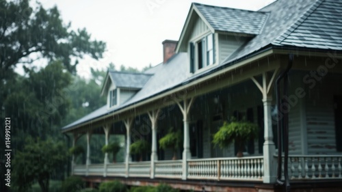
{"label": "white railing section between second and third columns from the right", "polygon": [[181,178],[183,174],[182,161],[156,161],[156,178]]}

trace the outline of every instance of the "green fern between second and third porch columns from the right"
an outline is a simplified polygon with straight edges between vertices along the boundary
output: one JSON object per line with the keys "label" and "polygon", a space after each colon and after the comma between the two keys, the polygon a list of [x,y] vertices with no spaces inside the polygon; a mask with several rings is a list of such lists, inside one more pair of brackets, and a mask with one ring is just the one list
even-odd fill
{"label": "green fern between second and third porch columns from the right", "polygon": [[173,157],[172,160],[176,160],[176,152],[183,141],[183,135],[181,130],[174,131],[174,128],[170,128],[168,134],[159,139],[159,148],[166,150],[168,148],[172,149]]}

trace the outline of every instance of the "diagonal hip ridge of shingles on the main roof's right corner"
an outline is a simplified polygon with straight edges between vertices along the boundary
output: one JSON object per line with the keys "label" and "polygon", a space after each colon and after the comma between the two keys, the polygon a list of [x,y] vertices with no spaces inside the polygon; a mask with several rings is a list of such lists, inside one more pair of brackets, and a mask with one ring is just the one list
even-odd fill
{"label": "diagonal hip ridge of shingles on the main roof's right corner", "polygon": [[300,15],[298,17],[298,20],[296,20],[295,23],[293,23],[284,31],[284,33],[276,38],[276,40],[274,40],[272,44],[281,44],[281,42],[285,40],[295,29],[297,29],[297,27],[302,24],[304,20],[306,20],[306,18],[308,18],[308,16],[310,16],[319,7],[319,5],[321,5],[323,1],[324,0],[316,0],[316,2],[313,3],[313,5],[311,5],[310,8],[308,8],[308,10],[306,10],[302,15]]}

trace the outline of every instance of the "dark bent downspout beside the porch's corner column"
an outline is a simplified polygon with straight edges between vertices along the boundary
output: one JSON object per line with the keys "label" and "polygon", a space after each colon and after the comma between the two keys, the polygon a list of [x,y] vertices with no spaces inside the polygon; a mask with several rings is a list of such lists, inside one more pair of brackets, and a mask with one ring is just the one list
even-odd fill
{"label": "dark bent downspout beside the porch's corner column", "polygon": [[[289,54],[289,64],[284,72],[279,74],[276,79],[276,102],[277,102],[277,130],[278,130],[278,167],[277,167],[277,183],[283,185],[284,182],[281,180],[281,165],[282,165],[282,140],[284,141],[284,176],[285,176],[285,191],[290,191],[290,183],[289,183],[289,174],[288,174],[288,157],[289,157],[289,113],[284,113],[282,118],[279,117],[280,114],[280,106],[282,104],[282,100],[280,98],[280,81],[284,79],[284,87],[283,87],[283,96],[287,96],[288,87],[287,83],[289,81],[289,70],[291,69],[293,64],[293,54]],[[282,130],[284,130],[284,135],[282,135]]]}

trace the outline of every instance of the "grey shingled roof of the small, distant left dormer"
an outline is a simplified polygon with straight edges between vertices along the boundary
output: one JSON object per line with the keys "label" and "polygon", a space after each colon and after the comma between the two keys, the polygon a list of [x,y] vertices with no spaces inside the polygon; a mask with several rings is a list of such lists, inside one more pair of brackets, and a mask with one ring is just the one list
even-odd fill
{"label": "grey shingled roof of the small, distant left dormer", "polygon": [[141,89],[153,74],[109,71],[116,87]]}

